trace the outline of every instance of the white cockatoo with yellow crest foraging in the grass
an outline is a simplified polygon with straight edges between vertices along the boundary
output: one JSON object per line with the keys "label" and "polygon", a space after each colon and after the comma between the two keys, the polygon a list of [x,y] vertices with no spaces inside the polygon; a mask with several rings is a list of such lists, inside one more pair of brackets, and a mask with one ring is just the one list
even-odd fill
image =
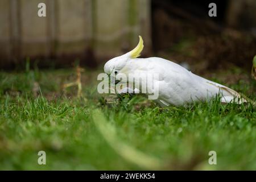
{"label": "white cockatoo with yellow crest foraging in the grass", "polygon": [[[158,98],[154,98],[154,101],[162,107],[186,105],[194,101],[208,101],[210,98],[216,97],[216,94],[221,94],[221,102],[233,101],[238,104],[246,102],[233,89],[197,76],[172,61],[160,57],[137,58],[141,55],[143,47],[143,39],[139,36],[138,46],[122,56],[109,60],[104,65],[104,72],[108,75],[114,75],[116,84],[118,81],[123,81],[118,80],[121,74],[127,77],[129,74],[135,76],[143,74],[158,75],[158,77],[153,78],[154,84],[158,84]],[[141,84],[145,84],[146,81],[146,79],[142,79],[139,85],[136,86],[135,84],[135,88],[127,86],[118,93],[139,93],[142,91]],[[126,82],[129,85],[130,80],[125,80],[123,84],[126,84]],[[150,93],[152,93],[152,88],[148,88],[148,85],[146,94],[149,95],[148,90],[151,89]]]}

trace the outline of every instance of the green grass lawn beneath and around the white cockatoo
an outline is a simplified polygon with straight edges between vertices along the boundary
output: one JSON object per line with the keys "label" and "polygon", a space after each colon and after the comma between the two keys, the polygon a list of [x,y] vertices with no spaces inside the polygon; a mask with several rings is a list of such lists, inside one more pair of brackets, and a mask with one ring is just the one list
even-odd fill
{"label": "green grass lawn beneath and around the white cockatoo", "polygon": [[[256,169],[252,105],[213,99],[161,109],[139,96],[108,102],[97,93],[96,72],[83,74],[76,98],[73,88],[61,92],[71,73],[0,73],[0,169]],[[228,86],[255,101],[255,81]],[[42,150],[46,165],[38,164]],[[208,164],[212,150],[217,165]]]}

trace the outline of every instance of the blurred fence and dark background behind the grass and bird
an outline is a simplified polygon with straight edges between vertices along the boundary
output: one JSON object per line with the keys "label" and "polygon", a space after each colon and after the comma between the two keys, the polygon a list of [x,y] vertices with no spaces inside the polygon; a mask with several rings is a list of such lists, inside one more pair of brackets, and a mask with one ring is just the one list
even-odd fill
{"label": "blurred fence and dark background behind the grass and bird", "polygon": [[[38,4],[46,3],[46,17]],[[217,17],[209,17],[209,3]],[[142,57],[160,56],[197,73],[256,54],[256,1],[1,0],[0,69],[97,68],[144,39]]]}

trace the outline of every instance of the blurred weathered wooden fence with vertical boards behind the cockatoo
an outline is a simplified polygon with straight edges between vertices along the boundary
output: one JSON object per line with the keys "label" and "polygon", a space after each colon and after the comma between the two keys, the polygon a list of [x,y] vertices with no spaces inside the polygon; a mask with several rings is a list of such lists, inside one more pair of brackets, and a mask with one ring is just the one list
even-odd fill
{"label": "blurred weathered wooden fence with vertical boards behind the cockatoo", "polygon": [[90,64],[135,47],[138,35],[150,52],[150,14],[150,0],[1,0],[0,67],[26,57]]}

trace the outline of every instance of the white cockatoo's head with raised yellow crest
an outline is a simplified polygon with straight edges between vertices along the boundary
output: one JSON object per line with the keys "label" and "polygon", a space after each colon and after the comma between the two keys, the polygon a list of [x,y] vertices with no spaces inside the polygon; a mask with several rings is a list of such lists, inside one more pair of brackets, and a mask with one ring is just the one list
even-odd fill
{"label": "white cockatoo's head with raised yellow crest", "polygon": [[127,61],[141,55],[143,47],[143,39],[141,36],[139,36],[139,43],[137,47],[122,56],[114,57],[113,59],[110,59],[108,62],[106,62],[106,64],[104,65],[104,72],[108,75],[112,73],[117,75],[119,71],[121,71],[121,69],[125,67]]}

